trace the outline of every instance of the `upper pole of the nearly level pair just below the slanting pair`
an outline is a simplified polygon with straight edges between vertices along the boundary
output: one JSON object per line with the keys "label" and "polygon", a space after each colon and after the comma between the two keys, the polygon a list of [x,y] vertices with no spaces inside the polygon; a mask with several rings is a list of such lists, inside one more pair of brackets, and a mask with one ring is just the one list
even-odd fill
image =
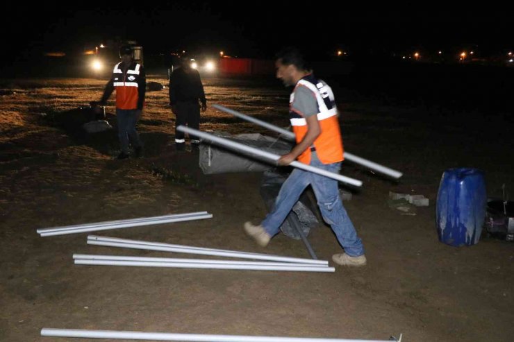
{"label": "upper pole of the nearly level pair just below the slanting pair", "polygon": [[308,266],[326,267],[318,264],[292,264],[288,262],[248,262],[238,260],[183,259],[172,257],[129,257],[125,255],[90,255],[74,254],[73,259],[82,260],[120,260],[126,262],[169,262],[179,264],[213,264],[213,265],[255,265],[255,266]]}

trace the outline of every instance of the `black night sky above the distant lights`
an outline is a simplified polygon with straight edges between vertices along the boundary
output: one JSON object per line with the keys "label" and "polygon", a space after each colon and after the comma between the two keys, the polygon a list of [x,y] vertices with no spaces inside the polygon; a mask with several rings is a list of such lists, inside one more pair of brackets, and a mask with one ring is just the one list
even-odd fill
{"label": "black night sky above the distant lights", "polygon": [[47,51],[76,53],[115,37],[137,40],[145,53],[223,50],[258,58],[270,57],[285,45],[320,54],[335,49],[402,53],[471,45],[493,53],[514,47],[512,20],[501,8],[448,11],[426,2],[426,8],[411,10],[371,5],[335,10],[321,2],[286,6],[279,1],[87,3],[88,7],[58,8],[47,2],[4,12],[1,25],[8,34],[3,43],[10,52],[4,52],[3,58]]}

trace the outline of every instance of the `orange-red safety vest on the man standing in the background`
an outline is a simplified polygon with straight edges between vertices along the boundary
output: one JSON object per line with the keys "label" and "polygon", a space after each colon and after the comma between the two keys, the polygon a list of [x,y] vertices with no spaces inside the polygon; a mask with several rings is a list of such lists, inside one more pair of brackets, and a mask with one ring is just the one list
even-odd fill
{"label": "orange-red safety vest on the man standing in the background", "polygon": [[116,108],[133,110],[138,108],[138,81],[141,65],[135,63],[134,69],[128,68],[126,74],[119,69],[119,62],[113,70],[114,87],[116,88]]}

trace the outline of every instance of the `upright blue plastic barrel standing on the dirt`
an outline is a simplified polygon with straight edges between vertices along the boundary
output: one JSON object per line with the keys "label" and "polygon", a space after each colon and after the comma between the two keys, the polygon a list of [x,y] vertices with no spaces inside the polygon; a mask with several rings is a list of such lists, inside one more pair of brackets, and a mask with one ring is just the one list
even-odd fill
{"label": "upright blue plastic barrel standing on the dirt", "polygon": [[439,241],[456,247],[478,243],[486,206],[486,182],[481,171],[465,168],[445,171],[436,205]]}

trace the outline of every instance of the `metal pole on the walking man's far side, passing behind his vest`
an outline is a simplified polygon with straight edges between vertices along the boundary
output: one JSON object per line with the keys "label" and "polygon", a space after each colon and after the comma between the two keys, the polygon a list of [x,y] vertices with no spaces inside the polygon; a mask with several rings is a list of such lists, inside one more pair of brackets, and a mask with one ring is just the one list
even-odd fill
{"label": "metal pole on the walking man's far side, passing behind his vest", "polygon": [[[256,119],[254,117],[250,117],[249,115],[242,114],[240,112],[237,112],[235,110],[231,110],[230,108],[226,108],[223,105],[213,105],[214,108],[217,108],[218,110],[222,110],[223,112],[227,112],[229,114],[234,115],[235,117],[239,117],[240,119],[253,122],[258,124],[259,126],[263,126],[264,128],[268,128],[270,130],[274,130],[275,132],[280,133],[285,138],[294,141],[295,140],[295,133],[285,130],[283,128],[277,127],[272,125],[271,123],[267,123],[266,121],[262,121],[259,119]],[[400,171],[396,171],[393,169],[388,168],[387,166],[383,166],[381,164],[377,164],[376,162],[372,162],[371,160],[364,159],[363,157],[358,157],[357,155],[351,154],[349,152],[345,151],[345,160],[348,160],[349,162],[354,162],[356,164],[360,164],[363,166],[366,166],[369,169],[372,169],[374,171],[377,171],[379,173],[386,174],[388,176],[391,176],[392,178],[400,178],[403,176],[403,173]]]}

